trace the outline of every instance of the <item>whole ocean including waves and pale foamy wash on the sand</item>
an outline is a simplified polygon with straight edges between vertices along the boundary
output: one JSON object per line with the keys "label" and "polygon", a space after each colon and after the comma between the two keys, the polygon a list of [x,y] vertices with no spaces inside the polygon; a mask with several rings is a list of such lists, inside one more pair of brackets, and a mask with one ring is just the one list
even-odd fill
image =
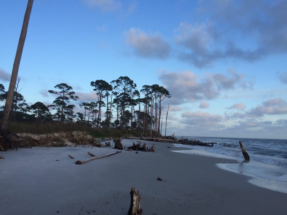
{"label": "whole ocean including waves and pale foamy wash on the sand", "polygon": [[[174,152],[237,160],[238,164],[218,163],[216,166],[251,176],[253,179],[249,182],[254,185],[287,193],[287,140],[197,136],[183,138],[217,144],[214,144],[214,147],[174,144],[178,148]],[[250,161],[245,161],[239,141],[249,154]]]}

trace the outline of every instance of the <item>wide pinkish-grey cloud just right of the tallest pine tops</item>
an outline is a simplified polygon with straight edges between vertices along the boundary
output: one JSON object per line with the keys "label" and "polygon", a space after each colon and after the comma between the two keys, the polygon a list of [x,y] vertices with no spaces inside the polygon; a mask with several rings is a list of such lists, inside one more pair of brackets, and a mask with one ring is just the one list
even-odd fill
{"label": "wide pinkish-grey cloud just right of the tallest pine tops", "polygon": [[201,79],[189,70],[182,73],[163,71],[159,74],[159,79],[170,92],[172,97],[169,102],[172,104],[215,99],[224,90],[246,87],[242,84],[244,75],[235,70],[228,71],[227,75],[207,73]]}

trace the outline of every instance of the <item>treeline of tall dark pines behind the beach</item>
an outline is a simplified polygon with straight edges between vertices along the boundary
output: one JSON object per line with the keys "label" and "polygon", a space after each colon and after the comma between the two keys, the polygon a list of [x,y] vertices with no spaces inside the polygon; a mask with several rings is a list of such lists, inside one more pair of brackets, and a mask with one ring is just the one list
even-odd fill
{"label": "treeline of tall dark pines behind the beach", "polygon": [[[77,101],[73,88],[66,83],[55,86],[49,93],[57,97],[51,105],[38,101],[28,105],[18,89],[21,78],[16,83],[10,121],[40,124],[42,122],[83,123],[93,128],[117,128],[141,130],[144,133],[162,131],[162,101],[171,95],[167,89],[157,84],[144,85],[138,91],[137,85],[127,76],[119,77],[110,83],[104,80],[91,82],[95,91],[95,101],[82,102],[82,112],[74,113]],[[0,84],[0,114],[3,113],[7,92]],[[51,114],[49,108],[54,110]],[[103,116],[102,116],[103,114]]]}

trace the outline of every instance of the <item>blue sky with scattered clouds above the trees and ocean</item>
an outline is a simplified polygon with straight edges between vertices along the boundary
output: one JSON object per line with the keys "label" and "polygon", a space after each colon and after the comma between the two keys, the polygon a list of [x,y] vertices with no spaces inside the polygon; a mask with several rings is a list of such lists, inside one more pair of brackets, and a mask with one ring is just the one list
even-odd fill
{"label": "blue sky with scattered clouds above the trees and ocean", "polygon": [[[0,3],[6,90],[27,2]],[[34,0],[20,93],[49,105],[48,90],[67,83],[78,105],[97,101],[91,81],[128,76],[171,94],[167,135],[287,139],[286,10],[285,0]]]}

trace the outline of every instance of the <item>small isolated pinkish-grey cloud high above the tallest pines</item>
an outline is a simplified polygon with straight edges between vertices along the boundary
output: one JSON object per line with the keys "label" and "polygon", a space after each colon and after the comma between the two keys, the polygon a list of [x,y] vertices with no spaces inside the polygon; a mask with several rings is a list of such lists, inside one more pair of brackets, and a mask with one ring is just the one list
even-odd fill
{"label": "small isolated pinkish-grey cloud high above the tallest pines", "polygon": [[131,28],[126,32],[126,42],[133,47],[135,54],[142,57],[167,58],[170,54],[170,45],[158,32],[148,34],[140,28]]}

